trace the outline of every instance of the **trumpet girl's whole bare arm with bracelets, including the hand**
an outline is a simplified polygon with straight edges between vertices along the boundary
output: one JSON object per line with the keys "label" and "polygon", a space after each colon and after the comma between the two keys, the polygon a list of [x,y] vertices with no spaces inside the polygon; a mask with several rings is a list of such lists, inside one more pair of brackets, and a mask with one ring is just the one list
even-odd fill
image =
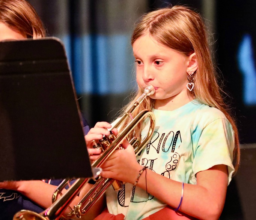
{"label": "trumpet girl's whole bare arm with bracelets, including the hand", "polygon": [[[103,164],[102,176],[134,184],[143,167],[137,163],[133,147],[127,142],[123,143],[123,146],[126,146],[125,150],[116,150]],[[216,165],[198,172],[197,185],[184,184],[184,195],[179,211],[198,219],[218,219],[224,206],[227,183],[226,165]],[[182,183],[149,169],[142,173],[137,186],[174,209],[181,201]]]}

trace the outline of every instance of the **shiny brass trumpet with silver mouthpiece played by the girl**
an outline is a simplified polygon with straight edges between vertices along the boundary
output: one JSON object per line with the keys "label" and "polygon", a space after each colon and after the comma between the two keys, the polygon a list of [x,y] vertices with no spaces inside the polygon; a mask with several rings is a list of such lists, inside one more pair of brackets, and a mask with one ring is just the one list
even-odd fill
{"label": "shiny brass trumpet with silver mouthpiece played by the girl", "polygon": [[[143,94],[130,106],[130,108],[120,117],[120,120],[116,123],[113,128],[118,128],[123,121],[130,117],[130,114],[133,110],[140,104],[142,101],[149,95],[154,94],[155,88],[152,85],[146,85],[143,91]],[[151,110],[141,111],[118,135],[115,137],[110,131],[108,137],[104,137],[99,141],[98,144],[95,144],[95,147],[102,149],[102,153],[99,158],[92,163],[92,168],[100,168],[100,166],[109,158],[109,156],[116,150],[120,149],[120,144],[122,141],[133,131],[137,124],[144,120],[146,117],[150,119],[149,131],[146,137],[143,138],[141,143],[139,143],[139,138],[133,138],[130,141],[130,144],[134,147],[134,152],[137,155],[143,147],[146,146],[148,141],[151,139],[154,129],[155,129],[155,116]],[[111,130],[113,129],[111,128]],[[122,186],[120,181],[111,179],[111,178],[102,178],[99,176],[96,183],[92,186],[89,192],[81,199],[81,201],[74,206],[74,209],[69,207],[69,204],[72,200],[78,195],[82,187],[88,183],[89,178],[78,178],[71,187],[62,195],[61,191],[68,183],[69,179],[65,179],[57,187],[53,194],[53,204],[44,210],[42,213],[38,214],[29,210],[21,210],[15,214],[13,220],[59,220],[59,219],[71,219],[74,216],[80,218],[84,215],[92,205],[98,201],[98,199],[104,194],[105,190],[112,185],[115,190],[119,190]],[[57,199],[58,195],[62,195]],[[68,215],[63,215],[64,211],[67,208],[71,209],[71,212]]]}

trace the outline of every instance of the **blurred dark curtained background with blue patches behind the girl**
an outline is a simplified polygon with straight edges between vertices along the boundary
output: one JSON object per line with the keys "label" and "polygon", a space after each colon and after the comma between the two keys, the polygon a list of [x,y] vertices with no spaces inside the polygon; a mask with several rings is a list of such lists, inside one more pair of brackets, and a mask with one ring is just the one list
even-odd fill
{"label": "blurred dark curtained background with blue patches behind the girl", "polygon": [[60,38],[84,117],[111,122],[136,89],[130,36],[139,17],[186,4],[205,18],[213,59],[237,119],[241,168],[228,187],[221,219],[256,218],[256,2],[251,0],[28,0],[48,36]]}

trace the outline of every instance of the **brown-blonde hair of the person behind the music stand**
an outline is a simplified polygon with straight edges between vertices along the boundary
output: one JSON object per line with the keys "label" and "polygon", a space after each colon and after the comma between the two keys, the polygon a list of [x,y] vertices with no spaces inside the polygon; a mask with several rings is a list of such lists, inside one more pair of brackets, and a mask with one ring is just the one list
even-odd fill
{"label": "brown-blonde hair of the person behind the music stand", "polygon": [[0,0],[0,22],[26,38],[45,37],[45,28],[35,9],[25,0]]}

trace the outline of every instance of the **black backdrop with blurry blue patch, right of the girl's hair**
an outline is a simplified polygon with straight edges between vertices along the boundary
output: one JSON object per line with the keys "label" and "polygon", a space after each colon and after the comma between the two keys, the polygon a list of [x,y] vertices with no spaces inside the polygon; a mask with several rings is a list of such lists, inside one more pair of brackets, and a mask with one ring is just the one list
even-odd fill
{"label": "black backdrop with blurry blue patch, right of the girl's hair", "polygon": [[218,61],[233,97],[241,143],[256,143],[256,2],[218,1]]}

